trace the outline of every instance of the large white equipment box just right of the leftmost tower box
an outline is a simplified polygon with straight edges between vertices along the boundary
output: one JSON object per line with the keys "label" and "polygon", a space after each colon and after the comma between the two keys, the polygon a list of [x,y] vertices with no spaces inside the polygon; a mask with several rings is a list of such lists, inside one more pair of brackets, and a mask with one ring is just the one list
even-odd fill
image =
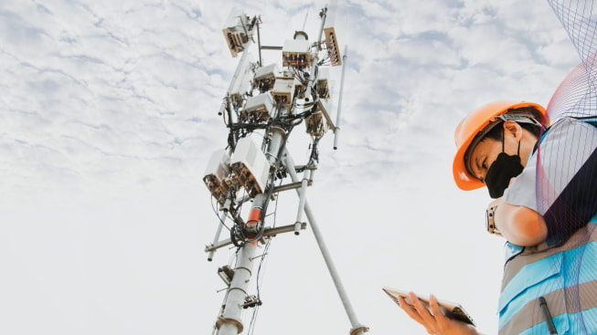
{"label": "large white equipment box just right of the leftmost tower box", "polygon": [[261,194],[267,185],[270,174],[270,162],[251,137],[239,140],[232,154],[230,166],[237,182],[244,186],[249,194]]}

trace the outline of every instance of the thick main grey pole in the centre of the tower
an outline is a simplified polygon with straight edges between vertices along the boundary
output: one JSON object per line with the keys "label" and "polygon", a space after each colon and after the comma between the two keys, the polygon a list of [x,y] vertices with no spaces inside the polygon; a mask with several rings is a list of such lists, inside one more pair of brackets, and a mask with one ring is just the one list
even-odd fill
{"label": "thick main grey pole in the centre of the tower", "polygon": [[[272,130],[272,141],[268,148],[268,161],[275,163],[278,153],[285,141],[285,132],[282,129]],[[267,201],[266,194],[257,194],[253,200],[252,209],[261,209]],[[234,277],[228,288],[228,297],[224,302],[224,313],[218,318],[216,326],[219,328],[218,335],[236,335],[244,329],[242,323],[242,304],[248,296],[247,288],[251,283],[254,263],[259,261],[257,243],[246,243],[240,248],[237,265],[234,268]],[[255,261],[255,262],[254,262]]]}

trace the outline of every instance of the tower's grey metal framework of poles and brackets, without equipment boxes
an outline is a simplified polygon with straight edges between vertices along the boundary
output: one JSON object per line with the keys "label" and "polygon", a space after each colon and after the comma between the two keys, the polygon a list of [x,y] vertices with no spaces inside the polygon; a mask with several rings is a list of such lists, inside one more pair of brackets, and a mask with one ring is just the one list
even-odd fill
{"label": "tower's grey metal framework of poles and brackets, without equipment boxes", "polygon": [[[334,3],[335,2],[336,1],[334,1]],[[333,13],[328,13],[328,8],[327,8],[327,6],[325,6],[324,9],[322,9],[322,11],[320,12],[321,26],[319,29],[318,39],[313,45],[317,51],[314,54],[312,54],[312,56],[314,57],[313,62],[309,63],[310,65],[307,65],[309,67],[310,76],[308,79],[306,79],[306,76],[305,76],[305,79],[304,79],[304,84],[306,83],[306,90],[305,90],[306,94],[304,95],[304,101],[307,103],[311,103],[312,106],[313,106],[313,102],[310,100],[312,98],[311,97],[311,89],[312,89],[312,86],[314,86],[314,84],[315,84],[314,83],[314,80],[315,80],[314,74],[316,72],[316,67],[318,66],[318,64],[317,64],[318,52],[322,50],[322,43],[323,43],[322,36],[324,33],[325,19],[328,16],[328,14],[331,15]],[[306,18],[305,18],[305,20],[306,20]],[[259,49],[259,65],[261,67],[262,66],[261,50],[282,50],[283,47],[262,46],[261,45],[260,25],[259,25],[261,23],[261,16],[255,16],[253,19],[253,22],[255,23],[254,28],[256,28],[256,30],[257,30],[257,47]],[[304,38],[305,39],[307,38],[306,35],[304,36]],[[230,106],[231,102],[229,99],[230,89],[231,89],[234,81],[236,79],[238,79],[238,77],[240,75],[240,64],[242,64],[248,57],[247,55],[249,53],[247,52],[247,49],[250,46],[251,46],[251,40],[249,42],[247,42],[244,47],[243,55],[240,58],[239,66],[237,67],[237,69],[234,73],[234,76],[230,83],[229,90],[227,92],[227,96],[226,96],[226,98],[224,98],[222,106],[219,110],[220,115],[223,114],[224,112],[228,112],[229,122],[232,122],[232,113],[231,113],[232,109]],[[337,114],[336,114],[336,123],[330,117],[330,110],[326,110],[326,106],[323,103],[322,99],[319,99],[318,101],[316,101],[316,103],[318,104],[318,106],[317,106],[318,109],[323,111],[326,124],[328,125],[329,129],[334,132],[334,135],[335,135],[334,149],[337,149],[338,133],[340,131],[340,127],[339,127],[340,110],[341,110],[341,106],[342,106],[342,103],[341,103],[342,102],[342,92],[344,89],[344,78],[345,78],[345,70],[346,70],[346,51],[347,51],[347,49],[345,47],[345,52],[344,52],[344,55],[342,58],[342,60],[343,60],[343,62],[342,62],[342,77],[341,77],[341,84],[340,84],[340,94],[339,94],[339,101],[338,101],[338,107],[337,107]],[[309,58],[309,60],[311,61],[311,58]],[[294,114],[292,114],[293,110],[291,110],[291,109],[294,109],[295,106],[292,103],[291,103],[290,107],[281,108],[280,106],[281,105],[279,104],[278,112],[282,113],[281,115],[294,115]],[[286,119],[284,119],[284,120],[286,120]],[[290,119],[290,120],[293,121],[294,119]],[[289,128],[290,130],[292,130],[293,124],[291,126],[292,127]],[[288,131],[288,133],[290,133],[290,130]],[[230,134],[232,135],[232,132],[230,132]],[[299,235],[300,231],[306,229],[306,227],[307,227],[307,224],[306,224],[306,222],[304,222],[304,219],[303,219],[303,215],[306,215],[306,219],[307,219],[309,225],[311,225],[311,227],[312,227],[315,241],[317,242],[317,246],[319,247],[319,250],[321,251],[321,254],[324,258],[325,265],[329,271],[330,277],[332,277],[332,280],[336,287],[338,296],[339,296],[340,300],[342,301],[344,309],[346,310],[346,315],[348,316],[348,319],[351,324],[350,335],[360,335],[360,334],[368,331],[368,328],[358,322],[357,315],[352,307],[352,304],[350,303],[350,300],[346,293],[346,289],[344,288],[342,280],[338,274],[338,271],[336,269],[336,266],[334,264],[332,256],[331,256],[329,250],[327,249],[327,246],[325,245],[324,237],[321,233],[321,230],[319,229],[319,225],[317,224],[317,221],[315,220],[312,208],[306,198],[307,189],[309,186],[311,186],[313,184],[314,170],[316,169],[316,163],[312,162],[312,160],[310,159],[310,161],[306,165],[300,166],[299,168],[301,169],[301,171],[304,171],[304,174],[303,174],[303,178],[299,179],[299,176],[296,173],[297,166],[294,165],[293,158],[292,158],[291,154],[288,152],[288,150],[285,148],[285,145],[284,145],[285,142],[287,141],[286,136],[287,136],[286,131],[279,124],[272,126],[271,132],[266,134],[266,137],[269,139],[267,148],[262,147],[261,150],[265,151],[265,153],[266,153],[265,156],[267,157],[267,161],[272,166],[272,168],[270,170],[270,176],[272,176],[272,173],[276,173],[276,171],[274,171],[275,169],[273,167],[275,167],[275,166],[282,167],[282,165],[283,165],[283,167],[285,168],[285,173],[288,173],[288,175],[290,176],[290,179],[292,180],[293,183],[286,183],[281,186],[274,187],[271,184],[272,182],[270,181],[270,178],[268,178],[268,182],[267,182],[268,184],[266,185],[265,188],[268,188],[270,191],[268,193],[253,194],[254,197],[252,198],[252,204],[251,204],[251,222],[257,221],[258,224],[261,223],[261,219],[255,220],[255,217],[257,217],[257,216],[254,216],[253,213],[258,213],[259,215],[265,215],[265,213],[261,213],[261,210],[262,210],[262,208],[265,208],[267,206],[268,202],[271,200],[271,199],[268,199],[270,194],[277,194],[280,192],[290,191],[290,190],[295,190],[296,194],[298,195],[298,199],[299,199],[298,209],[297,209],[297,214],[296,214],[296,221],[294,222],[293,225],[283,225],[283,226],[279,226],[279,227],[259,228],[259,234],[253,238],[253,240],[255,240],[255,242],[251,242],[251,240],[249,240],[249,242],[245,241],[245,243],[242,244],[241,246],[239,244],[237,244],[237,242],[234,242],[235,244],[237,244],[239,246],[239,248],[237,250],[236,264],[234,265],[234,268],[230,268],[230,267],[232,267],[231,265],[226,267],[226,276],[225,276],[226,280],[224,280],[224,282],[228,285],[228,288],[226,288],[226,291],[227,291],[226,297],[224,298],[224,302],[222,304],[222,309],[220,309],[219,317],[216,321],[216,325],[214,326],[214,333],[217,332],[218,335],[233,335],[233,334],[240,334],[245,329],[243,321],[242,321],[243,307],[251,308],[251,307],[254,307],[255,304],[257,304],[257,305],[261,304],[261,301],[259,301],[259,299],[255,300],[254,296],[251,296],[251,298],[252,298],[250,301],[251,303],[245,303],[245,299],[247,297],[250,297],[250,295],[248,293],[248,289],[251,284],[251,279],[253,278],[253,275],[254,275],[253,267],[255,266],[255,263],[260,261],[260,258],[267,255],[267,254],[258,255],[259,243],[260,242],[263,243],[266,238],[272,238],[273,236],[276,236],[278,234],[293,232],[295,235]],[[320,135],[316,135],[316,136],[320,136]],[[318,140],[319,140],[319,137],[317,137],[317,141]],[[317,141],[315,141],[314,145],[316,145]],[[266,143],[265,137],[264,137],[263,143],[264,144]],[[232,138],[231,140],[229,140],[229,144],[234,147],[235,139]],[[312,154],[313,154],[313,152],[312,152]],[[277,162],[278,159],[280,159],[282,162]],[[282,165],[280,165],[280,163],[282,163]],[[273,180],[273,177],[271,179]],[[264,190],[261,190],[261,191],[264,191]],[[272,199],[273,199],[273,197],[272,197]],[[227,211],[233,210],[233,208],[234,208],[234,207],[231,207],[231,205],[232,205],[231,202],[235,201],[236,204],[242,204],[249,200],[251,200],[251,196],[245,196],[244,198],[241,197],[239,199],[230,198],[222,206],[223,213],[221,213],[221,215],[219,216],[220,222],[219,222],[218,228],[216,230],[216,234],[214,236],[213,242],[211,244],[209,244],[208,246],[206,246],[206,248],[205,248],[205,252],[208,253],[208,261],[211,261],[213,259],[213,256],[214,256],[214,253],[216,252],[216,250],[218,250],[219,248],[222,248],[225,246],[230,246],[233,244],[233,242],[230,238],[219,240],[220,235],[221,235],[222,226],[225,224],[225,221],[228,217]],[[236,215],[238,215],[238,213]],[[260,216],[260,217],[263,217],[263,216]],[[236,216],[235,221],[238,221],[238,216]],[[233,224],[236,225],[236,223],[233,223]],[[261,223],[261,226],[263,224],[264,223]],[[257,225],[255,225],[255,226],[257,226]],[[244,236],[244,235],[242,235],[242,236]]]}

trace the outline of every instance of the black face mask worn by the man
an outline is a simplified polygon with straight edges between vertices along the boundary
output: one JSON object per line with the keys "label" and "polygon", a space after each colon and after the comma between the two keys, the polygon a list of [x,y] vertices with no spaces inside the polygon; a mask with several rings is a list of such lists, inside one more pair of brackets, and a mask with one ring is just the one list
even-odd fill
{"label": "black face mask worn by the man", "polygon": [[510,179],[522,173],[523,169],[524,166],[520,163],[520,141],[518,141],[517,154],[510,156],[504,152],[504,137],[502,136],[502,152],[497,155],[496,161],[491,164],[485,175],[489,196],[497,199],[504,195]]}

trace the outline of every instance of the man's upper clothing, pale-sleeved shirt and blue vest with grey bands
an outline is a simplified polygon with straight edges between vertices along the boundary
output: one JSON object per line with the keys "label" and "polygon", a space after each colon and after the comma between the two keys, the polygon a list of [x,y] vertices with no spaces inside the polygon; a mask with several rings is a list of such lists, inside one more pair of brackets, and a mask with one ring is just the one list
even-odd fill
{"label": "man's upper clothing, pale-sleeved shirt and blue vest with grey bands", "polygon": [[538,246],[506,244],[499,334],[549,334],[538,298],[561,334],[597,333],[597,126],[558,120],[504,194],[543,215]]}

